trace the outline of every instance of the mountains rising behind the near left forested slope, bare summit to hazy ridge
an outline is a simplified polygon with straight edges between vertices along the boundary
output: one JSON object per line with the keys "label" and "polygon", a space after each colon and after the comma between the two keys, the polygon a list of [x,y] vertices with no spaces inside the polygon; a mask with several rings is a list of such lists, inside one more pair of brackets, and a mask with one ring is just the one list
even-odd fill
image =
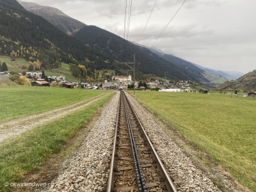
{"label": "mountains rising behind the near left forested slope, bare summit to hazy ridge", "polygon": [[[154,47],[151,51],[148,47],[132,42],[124,45],[124,39],[109,31],[96,26],[86,26],[76,19],[72,19],[56,8],[41,6],[35,3],[19,1],[26,10],[44,17],[64,33],[72,35],[91,49],[102,52],[117,61],[131,61],[131,54],[136,52],[138,69],[144,74],[154,74],[170,79],[189,79],[198,81],[207,86],[216,86],[228,79],[237,79],[243,76],[240,72],[223,72],[205,68],[182,58],[166,54]],[[126,56],[124,56],[124,46]],[[174,64],[174,65],[173,65]]]}

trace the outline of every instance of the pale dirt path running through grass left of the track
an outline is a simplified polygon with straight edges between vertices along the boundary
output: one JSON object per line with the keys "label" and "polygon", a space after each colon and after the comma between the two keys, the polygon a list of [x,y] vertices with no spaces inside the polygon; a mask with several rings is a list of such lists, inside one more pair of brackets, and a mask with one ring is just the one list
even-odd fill
{"label": "pale dirt path running through grass left of the track", "polygon": [[6,124],[0,125],[0,143],[14,136],[18,136],[22,132],[28,131],[29,129],[33,129],[39,125],[46,124],[47,122],[55,120],[56,118],[60,118],[61,116],[68,115],[68,113],[71,113],[72,111],[84,108],[85,106],[88,106],[105,96],[106,94],[102,93],[95,97],[76,102],[75,104],[71,104],[70,106],[66,106],[64,108],[52,109],[51,111],[45,111],[36,115],[29,115],[10,120]]}

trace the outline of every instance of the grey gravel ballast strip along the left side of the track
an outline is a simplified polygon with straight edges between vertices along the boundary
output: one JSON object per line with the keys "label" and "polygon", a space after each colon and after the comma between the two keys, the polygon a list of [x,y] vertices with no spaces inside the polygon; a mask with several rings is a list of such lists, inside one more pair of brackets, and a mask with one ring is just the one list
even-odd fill
{"label": "grey gravel ballast strip along the left side of the track", "polygon": [[92,130],[47,191],[105,191],[120,92],[104,106]]}

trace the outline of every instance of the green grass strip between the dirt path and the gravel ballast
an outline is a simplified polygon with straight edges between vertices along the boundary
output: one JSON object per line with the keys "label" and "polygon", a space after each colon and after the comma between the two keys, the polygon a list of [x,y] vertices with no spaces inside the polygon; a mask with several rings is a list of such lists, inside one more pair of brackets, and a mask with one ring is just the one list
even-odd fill
{"label": "green grass strip between the dirt path and the gravel ballast", "polygon": [[59,152],[66,141],[113,95],[90,104],[49,124],[36,127],[0,144],[0,191],[12,191],[4,182],[21,182],[24,174],[35,170],[51,154]]}

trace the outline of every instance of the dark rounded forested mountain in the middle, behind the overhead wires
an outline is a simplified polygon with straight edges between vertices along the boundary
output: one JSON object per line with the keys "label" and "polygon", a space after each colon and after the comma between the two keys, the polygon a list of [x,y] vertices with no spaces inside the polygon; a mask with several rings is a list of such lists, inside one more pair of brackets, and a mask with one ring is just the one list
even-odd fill
{"label": "dark rounded forested mountain in the middle, behind the overhead wires", "polygon": [[[187,72],[180,69],[170,61],[159,58],[156,54],[147,48],[134,45],[127,42],[124,45],[124,39],[109,31],[100,29],[96,26],[85,26],[74,34],[77,40],[81,40],[84,44],[92,49],[108,54],[113,60],[132,62],[132,54],[136,54],[136,63],[138,68],[144,74],[155,74],[159,77],[168,77],[170,79],[188,79],[197,81]],[[124,47],[126,56],[124,59]]]}

